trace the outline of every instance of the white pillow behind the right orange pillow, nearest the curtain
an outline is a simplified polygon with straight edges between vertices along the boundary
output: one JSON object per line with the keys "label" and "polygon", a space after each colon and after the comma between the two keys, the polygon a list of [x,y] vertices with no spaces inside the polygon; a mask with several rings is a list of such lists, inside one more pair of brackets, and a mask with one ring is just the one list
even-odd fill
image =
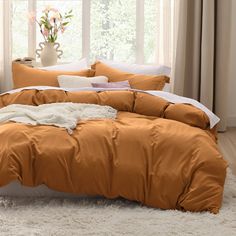
{"label": "white pillow behind the right orange pillow, nearest the curtain", "polygon": [[129,64],[124,62],[115,62],[105,59],[98,59],[98,60],[112,68],[133,74],[170,76],[171,72],[171,68],[165,65],[139,65],[139,64]]}

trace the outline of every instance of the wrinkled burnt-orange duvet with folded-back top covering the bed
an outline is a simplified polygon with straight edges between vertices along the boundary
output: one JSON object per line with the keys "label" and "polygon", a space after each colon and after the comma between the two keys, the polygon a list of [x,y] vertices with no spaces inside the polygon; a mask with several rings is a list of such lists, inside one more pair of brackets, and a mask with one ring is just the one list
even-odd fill
{"label": "wrinkled burnt-orange duvet with folded-back top covering the bed", "polygon": [[19,180],[162,209],[219,211],[227,164],[201,110],[132,91],[0,96],[0,107],[55,102],[110,105],[119,112],[116,120],[79,122],[72,135],[53,126],[0,124],[0,186]]}

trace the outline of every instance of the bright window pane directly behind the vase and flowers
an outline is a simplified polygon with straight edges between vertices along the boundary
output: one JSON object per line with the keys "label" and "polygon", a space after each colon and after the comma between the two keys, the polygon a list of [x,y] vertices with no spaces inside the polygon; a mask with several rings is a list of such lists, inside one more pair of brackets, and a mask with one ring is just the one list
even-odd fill
{"label": "bright window pane directly behind the vase and flowers", "polygon": [[[63,50],[62,61],[71,62],[82,57],[82,0],[74,1],[54,1],[38,0],[37,1],[37,19],[42,15],[46,6],[52,6],[59,9],[64,14],[73,10],[73,18],[64,34],[58,35],[57,42],[61,44],[59,49]],[[43,42],[43,36],[37,27],[37,47],[39,42]]]}

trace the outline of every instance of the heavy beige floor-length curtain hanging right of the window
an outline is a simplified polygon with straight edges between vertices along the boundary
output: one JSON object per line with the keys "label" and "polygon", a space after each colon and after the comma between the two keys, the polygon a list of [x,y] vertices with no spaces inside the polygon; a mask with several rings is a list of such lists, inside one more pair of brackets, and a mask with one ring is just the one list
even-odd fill
{"label": "heavy beige floor-length curtain hanging right of the window", "polygon": [[178,0],[173,91],[199,100],[226,129],[232,0]]}

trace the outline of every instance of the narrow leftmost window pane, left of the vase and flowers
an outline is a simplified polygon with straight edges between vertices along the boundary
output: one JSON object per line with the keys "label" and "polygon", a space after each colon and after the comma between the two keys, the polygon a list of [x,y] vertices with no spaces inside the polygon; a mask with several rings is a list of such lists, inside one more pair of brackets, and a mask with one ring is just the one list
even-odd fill
{"label": "narrow leftmost window pane, left of the vase and flowers", "polygon": [[28,1],[12,1],[12,58],[28,55]]}

